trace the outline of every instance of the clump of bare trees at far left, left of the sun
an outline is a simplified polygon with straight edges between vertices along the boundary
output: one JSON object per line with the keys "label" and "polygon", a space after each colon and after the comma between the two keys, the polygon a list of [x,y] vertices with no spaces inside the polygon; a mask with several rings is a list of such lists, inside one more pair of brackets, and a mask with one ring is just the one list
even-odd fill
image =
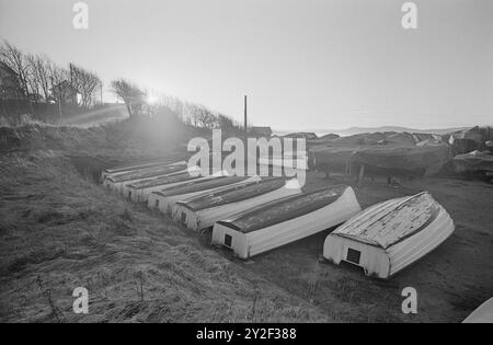
{"label": "clump of bare trees at far left, left of the sun", "polygon": [[34,103],[70,103],[89,108],[102,88],[96,73],[74,64],[54,64],[46,55],[25,54],[3,41],[0,44],[0,100]]}

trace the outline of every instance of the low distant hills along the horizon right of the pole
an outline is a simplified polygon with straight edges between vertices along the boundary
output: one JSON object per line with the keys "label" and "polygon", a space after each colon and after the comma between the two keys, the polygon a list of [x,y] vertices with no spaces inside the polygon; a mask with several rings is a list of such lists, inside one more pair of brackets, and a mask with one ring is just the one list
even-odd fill
{"label": "low distant hills along the horizon right of the pole", "polygon": [[[471,126],[472,127],[472,126]],[[381,126],[381,127],[351,127],[346,129],[313,129],[308,128],[303,129],[303,131],[313,131],[318,136],[322,136],[325,134],[336,134],[342,137],[353,136],[362,133],[376,133],[376,131],[409,131],[409,133],[426,133],[426,134],[436,134],[436,135],[444,135],[451,131],[462,130],[470,127],[455,127],[455,128],[434,128],[434,129],[416,129],[416,128],[408,128],[408,127],[400,127],[400,126]],[[275,130],[274,133],[276,135],[287,135],[289,133],[294,133],[296,130],[289,131],[289,130]]]}

